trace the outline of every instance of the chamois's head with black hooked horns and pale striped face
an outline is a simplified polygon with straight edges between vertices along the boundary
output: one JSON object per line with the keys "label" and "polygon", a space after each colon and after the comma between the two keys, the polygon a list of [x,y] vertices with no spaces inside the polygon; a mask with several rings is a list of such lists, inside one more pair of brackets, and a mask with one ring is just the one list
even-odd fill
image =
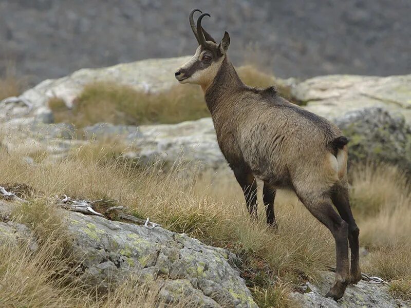
{"label": "chamois's head with black hooked horns and pale striped face", "polygon": [[[193,18],[195,12],[201,13],[197,25],[194,24]],[[203,89],[207,89],[214,80],[222,60],[226,57],[230,45],[230,35],[226,31],[220,44],[217,44],[214,38],[201,26],[201,20],[204,16],[210,17],[210,14],[202,13],[198,9],[194,9],[190,13],[190,26],[199,46],[194,56],[175,72],[175,76],[180,83],[199,84]]]}

